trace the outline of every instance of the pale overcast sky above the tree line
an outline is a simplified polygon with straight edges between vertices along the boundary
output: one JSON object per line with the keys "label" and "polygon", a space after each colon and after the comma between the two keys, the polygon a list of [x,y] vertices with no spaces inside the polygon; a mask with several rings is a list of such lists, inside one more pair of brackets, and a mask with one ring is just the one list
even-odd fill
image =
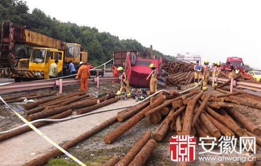
{"label": "pale overcast sky above the tree line", "polygon": [[260,1],[25,1],[30,11],[152,44],[163,54],[190,52],[211,62],[238,56],[261,69]]}

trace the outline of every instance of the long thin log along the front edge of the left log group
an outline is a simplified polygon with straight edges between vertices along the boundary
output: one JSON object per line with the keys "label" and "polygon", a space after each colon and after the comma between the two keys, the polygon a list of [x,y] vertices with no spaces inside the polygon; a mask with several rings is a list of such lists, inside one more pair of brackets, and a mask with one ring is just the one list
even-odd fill
{"label": "long thin log along the front edge of the left log group", "polygon": [[95,104],[103,102],[105,99],[106,99],[106,97],[102,97],[102,98],[98,98],[98,99],[94,99],[94,100],[90,100],[90,101],[81,101],[81,102],[74,103],[72,105],[67,105],[67,106],[49,109],[49,110],[46,110],[44,112],[42,111],[42,112],[38,112],[38,113],[35,113],[35,114],[31,114],[29,116],[26,116],[26,119],[28,121],[32,121],[32,120],[44,118],[44,117],[47,117],[47,116],[59,114],[59,113],[65,111],[65,110],[68,110],[68,109],[73,110],[73,109],[93,106]]}

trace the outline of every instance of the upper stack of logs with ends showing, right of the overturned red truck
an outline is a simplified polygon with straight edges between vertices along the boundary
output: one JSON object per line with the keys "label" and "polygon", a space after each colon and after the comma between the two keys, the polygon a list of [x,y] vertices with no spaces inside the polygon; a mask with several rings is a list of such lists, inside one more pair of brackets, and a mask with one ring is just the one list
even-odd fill
{"label": "upper stack of logs with ends showing, right of the overturned red truck", "polygon": [[183,62],[183,61],[173,61],[168,63],[163,63],[162,68],[169,74],[175,74],[177,72],[189,72],[192,71],[194,67],[193,63]]}

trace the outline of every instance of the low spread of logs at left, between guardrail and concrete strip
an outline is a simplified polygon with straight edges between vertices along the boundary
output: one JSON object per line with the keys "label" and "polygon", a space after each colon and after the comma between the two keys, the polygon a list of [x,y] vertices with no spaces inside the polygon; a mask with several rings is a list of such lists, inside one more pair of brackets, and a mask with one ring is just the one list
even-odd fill
{"label": "low spread of logs at left, between guardrail and concrete strip", "polygon": [[[76,114],[80,115],[117,101],[118,98],[115,98],[114,93],[101,98],[96,98],[91,97],[85,92],[75,92],[67,95],[40,99],[34,103],[28,103],[25,105],[25,109],[27,111],[24,112],[24,115],[26,115],[25,118],[28,121],[41,118],[61,119],[71,115],[73,111],[76,111]],[[49,123],[50,122],[38,122],[35,123],[34,126],[41,127]],[[9,133],[0,134],[0,141],[9,139],[30,130],[32,129],[29,126],[25,126]]]}

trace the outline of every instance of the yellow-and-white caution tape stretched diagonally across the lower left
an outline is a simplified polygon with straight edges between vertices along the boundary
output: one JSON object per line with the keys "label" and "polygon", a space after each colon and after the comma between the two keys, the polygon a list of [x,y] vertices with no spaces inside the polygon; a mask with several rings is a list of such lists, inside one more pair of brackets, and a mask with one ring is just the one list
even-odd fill
{"label": "yellow-and-white caution tape stretched diagonally across the lower left", "polygon": [[54,141],[52,141],[49,137],[47,137],[44,133],[42,133],[40,130],[38,130],[34,125],[32,125],[30,122],[28,122],[23,116],[21,116],[19,113],[17,113],[15,110],[13,110],[5,101],[4,99],[0,96],[0,100],[2,100],[3,103],[5,103],[22,121],[25,122],[25,124],[27,124],[29,127],[31,127],[37,134],[39,134],[41,137],[43,137],[45,140],[47,140],[50,144],[52,144],[53,146],[55,146],[57,149],[59,149],[60,151],[62,151],[64,154],[66,154],[68,157],[70,157],[71,159],[73,159],[74,161],[76,161],[78,164],[82,165],[82,166],[86,166],[83,162],[81,162],[80,160],[78,160],[76,157],[74,157],[73,155],[71,155],[69,152],[67,152],[66,150],[64,150],[61,146],[57,145],[57,143],[55,143]]}

